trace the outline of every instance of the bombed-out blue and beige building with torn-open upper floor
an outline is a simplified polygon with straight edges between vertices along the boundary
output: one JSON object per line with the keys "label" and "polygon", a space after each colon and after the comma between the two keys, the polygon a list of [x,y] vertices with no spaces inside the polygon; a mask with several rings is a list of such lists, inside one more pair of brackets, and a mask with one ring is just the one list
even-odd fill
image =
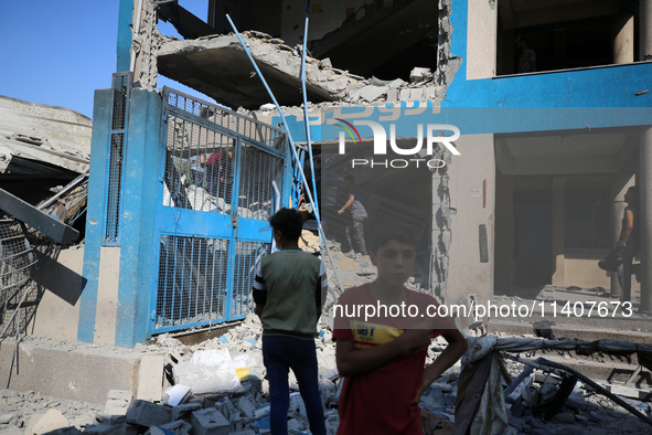
{"label": "bombed-out blue and beige building with torn-open upper floor", "polygon": [[[77,297],[55,299],[65,327],[34,335],[133,348],[246,317],[253,268],[271,248],[267,217],[299,201],[301,165],[289,137],[298,149],[309,139],[299,107],[304,2],[206,3],[204,19],[177,1],[120,1],[116,75],[111,89],[95,95],[85,243],[75,253],[83,268],[68,266]],[[616,276],[597,261],[618,236],[629,185],[645,193],[641,221],[652,216],[648,1],[355,0],[313,3],[310,12],[306,86],[316,150],[336,153],[338,119],[360,126],[370,147],[373,131],[356,120],[388,135],[393,126],[403,149],[419,125],[461,132],[460,156],[438,149],[442,168],[405,174],[378,166],[356,176],[377,210],[420,231],[421,288],[446,303],[545,285],[619,295]],[[184,40],[161,35],[158,20]],[[538,71],[516,73],[519,35],[536,51]],[[159,74],[216,103],[157,89]],[[207,174],[197,170],[206,168],[202,157],[228,173],[231,202],[196,182]],[[345,163],[333,176],[351,169]],[[228,191],[221,185],[216,192]],[[641,312],[652,311],[651,237],[641,232]],[[84,356],[87,368],[111,361]],[[140,359],[119,359],[114,382],[129,390]],[[52,391],[72,394],[66,388]],[[82,389],[70,390],[90,394]]]}

